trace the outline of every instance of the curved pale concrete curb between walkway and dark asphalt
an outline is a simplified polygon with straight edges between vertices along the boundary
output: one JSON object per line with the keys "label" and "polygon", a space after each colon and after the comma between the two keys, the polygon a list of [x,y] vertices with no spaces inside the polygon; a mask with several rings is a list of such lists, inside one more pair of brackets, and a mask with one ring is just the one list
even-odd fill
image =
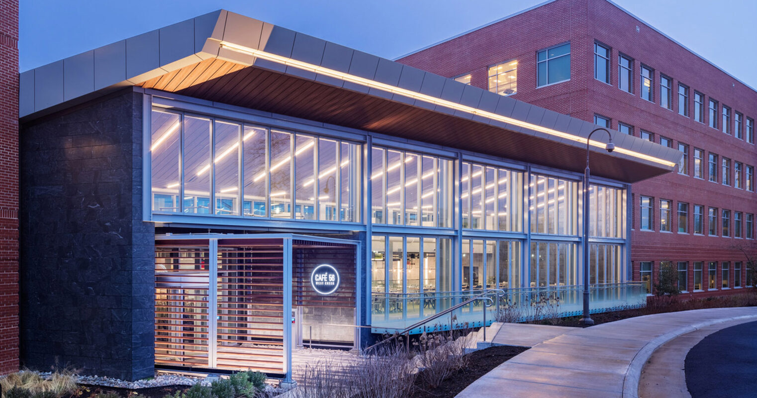
{"label": "curved pale concrete curb between walkway and dark asphalt", "polygon": [[699,322],[694,325],[688,325],[683,328],[676,329],[674,331],[662,334],[662,336],[656,337],[645,344],[644,347],[636,353],[634,359],[628,365],[628,372],[625,372],[623,378],[623,397],[624,398],[638,398],[639,397],[639,381],[641,380],[641,371],[647,361],[650,360],[652,354],[663,344],[673,340],[683,334],[690,333],[692,331],[706,328],[708,326],[717,325],[719,323],[731,322],[737,320],[743,320],[749,322],[757,319],[757,315],[743,315],[743,316],[731,316],[729,318],[712,319],[706,322]]}

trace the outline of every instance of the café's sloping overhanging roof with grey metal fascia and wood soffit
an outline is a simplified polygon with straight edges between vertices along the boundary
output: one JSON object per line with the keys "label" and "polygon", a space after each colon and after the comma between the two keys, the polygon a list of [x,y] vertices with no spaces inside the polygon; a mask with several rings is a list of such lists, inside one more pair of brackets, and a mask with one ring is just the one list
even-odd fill
{"label": "caf\u00e9's sloping overhanging roof with grey metal fascia and wood soffit", "polygon": [[[582,172],[598,126],[361,51],[216,11],[21,74],[22,122],[124,86],[174,92]],[[612,131],[592,174],[624,182],[674,169],[681,152]]]}

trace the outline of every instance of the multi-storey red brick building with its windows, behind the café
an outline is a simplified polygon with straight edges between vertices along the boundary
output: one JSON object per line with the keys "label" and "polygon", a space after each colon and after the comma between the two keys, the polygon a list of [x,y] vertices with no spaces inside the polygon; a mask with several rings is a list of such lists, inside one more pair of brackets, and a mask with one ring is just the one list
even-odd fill
{"label": "multi-storey red brick building with its windows, behind the caf\u00e9", "polygon": [[633,185],[632,278],[669,262],[685,294],[753,285],[755,89],[606,0],[547,2],[398,61],[684,152]]}

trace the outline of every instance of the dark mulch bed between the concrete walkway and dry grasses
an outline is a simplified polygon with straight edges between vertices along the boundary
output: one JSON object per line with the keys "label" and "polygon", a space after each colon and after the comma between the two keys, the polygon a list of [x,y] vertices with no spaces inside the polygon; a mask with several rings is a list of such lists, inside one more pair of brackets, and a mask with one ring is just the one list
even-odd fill
{"label": "dark mulch bed between the concrete walkway and dry grasses", "polygon": [[416,379],[413,398],[453,398],[469,384],[486,375],[502,362],[528,350],[524,347],[498,346],[485,348],[468,354],[469,365],[444,379],[439,387],[428,389],[420,378]]}

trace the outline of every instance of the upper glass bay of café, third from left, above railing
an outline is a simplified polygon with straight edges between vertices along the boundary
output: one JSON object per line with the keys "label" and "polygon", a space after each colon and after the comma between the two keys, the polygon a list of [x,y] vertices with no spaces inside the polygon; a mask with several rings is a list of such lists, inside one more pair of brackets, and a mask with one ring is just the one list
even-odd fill
{"label": "upper glass bay of caf\u00e9, third from left, above railing", "polygon": [[476,163],[463,163],[463,228],[523,231],[523,173]]}

